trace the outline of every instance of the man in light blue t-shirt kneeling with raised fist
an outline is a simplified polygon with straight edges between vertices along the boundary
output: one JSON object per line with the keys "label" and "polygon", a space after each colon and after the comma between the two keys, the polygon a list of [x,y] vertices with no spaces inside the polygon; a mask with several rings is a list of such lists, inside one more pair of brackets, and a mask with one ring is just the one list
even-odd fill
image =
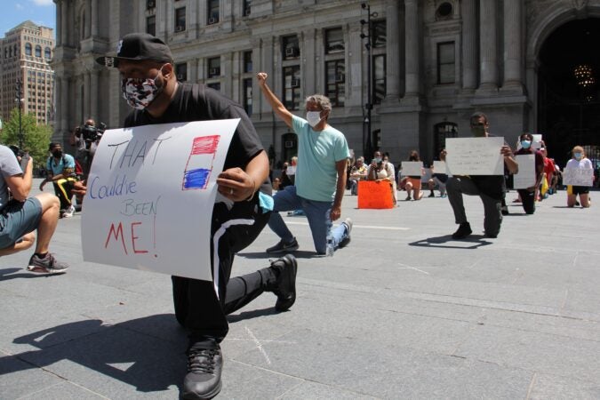
{"label": "man in light blue t-shirt kneeling with raised fist", "polygon": [[327,124],[332,103],[320,94],[308,96],[305,104],[307,118],[294,116],[268,88],[268,75],[260,72],[257,77],[260,90],[276,115],[298,135],[295,185],[276,193],[274,212],[268,221],[269,228],[281,240],[269,247],[267,252],[298,250],[298,242],[279,212],[302,210],[307,216],[316,252],[332,255],[337,248],[349,243],[352,230],[352,220],[349,218],[332,228],[332,221],[341,216],[341,200],[346,188],[350,156],[344,134]]}

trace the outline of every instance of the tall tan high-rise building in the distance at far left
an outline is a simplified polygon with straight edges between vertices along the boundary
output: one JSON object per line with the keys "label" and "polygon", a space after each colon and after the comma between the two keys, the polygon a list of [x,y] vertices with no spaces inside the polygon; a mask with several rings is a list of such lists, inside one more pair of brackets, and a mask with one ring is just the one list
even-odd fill
{"label": "tall tan high-rise building in the distance at far left", "polygon": [[16,108],[17,81],[21,83],[21,111],[36,116],[39,124],[54,117],[54,54],[52,28],[28,20],[0,38],[0,116],[5,121]]}

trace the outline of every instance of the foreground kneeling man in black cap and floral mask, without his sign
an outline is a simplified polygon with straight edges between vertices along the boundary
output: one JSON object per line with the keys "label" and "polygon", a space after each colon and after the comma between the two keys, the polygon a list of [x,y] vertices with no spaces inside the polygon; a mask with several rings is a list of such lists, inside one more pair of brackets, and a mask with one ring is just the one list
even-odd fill
{"label": "foreground kneeling man in black cap and floral mask, without his sign", "polygon": [[289,254],[268,268],[229,279],[236,252],[252,244],[269,218],[272,207],[264,201],[271,194],[267,153],[243,108],[204,85],[177,82],[171,51],[155,36],[124,36],[116,57],[97,61],[121,73],[124,98],[135,108],[125,127],[241,118],[217,179],[211,227],[213,281],[172,276],[175,315],[190,331],[181,396],[212,398],[221,388],[219,343],[228,332],[226,316],[262,292],[276,294],[277,311],[292,307],[296,299],[297,265]]}

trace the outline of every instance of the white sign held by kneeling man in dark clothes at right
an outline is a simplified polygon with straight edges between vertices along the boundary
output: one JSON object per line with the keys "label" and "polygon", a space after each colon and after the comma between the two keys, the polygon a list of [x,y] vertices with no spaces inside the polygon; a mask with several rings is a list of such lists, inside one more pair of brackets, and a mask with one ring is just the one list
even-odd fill
{"label": "white sign held by kneeling man in dark clothes at right", "polygon": [[504,138],[448,138],[446,165],[452,175],[503,175]]}

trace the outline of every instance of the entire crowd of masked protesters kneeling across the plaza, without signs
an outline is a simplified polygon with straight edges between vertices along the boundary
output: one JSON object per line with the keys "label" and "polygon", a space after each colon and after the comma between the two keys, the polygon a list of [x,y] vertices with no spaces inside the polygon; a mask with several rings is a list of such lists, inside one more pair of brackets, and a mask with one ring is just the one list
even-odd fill
{"label": "entire crowd of masked protesters kneeling across the plaza, without signs", "polygon": [[[298,135],[298,156],[282,165],[271,184],[268,154],[244,108],[204,85],[178,82],[171,50],[163,41],[148,34],[129,34],[120,41],[116,56],[107,55],[97,61],[107,68],[117,68],[123,78],[121,90],[132,108],[124,127],[240,119],[223,171],[216,180],[218,195],[212,206],[210,228],[214,257],[207,266],[213,274],[212,282],[172,276],[175,316],[189,331],[188,369],[181,388],[182,398],[212,398],[220,392],[223,364],[220,342],[228,333],[228,314],[263,292],[276,295],[276,311],[292,308],[298,269],[292,252],[300,245],[280,212],[302,212],[308,220],[316,254],[332,256],[350,243],[353,222],[349,218],[341,220],[341,204],[347,189],[351,195],[360,195],[361,180],[389,185],[394,204],[398,204],[398,191],[406,191],[406,201],[420,201],[423,185],[430,191],[428,197],[435,197],[437,189],[440,197],[447,196],[452,206],[458,225],[452,234],[454,239],[472,233],[463,195],[481,197],[485,235],[499,235],[506,208],[507,177],[518,171],[518,155],[535,156],[535,180],[530,188],[518,190],[526,213],[533,213],[536,201],[542,201],[560,187],[560,170],[548,158],[545,145],[540,150],[532,147],[529,133],[520,136],[516,149],[507,143],[498,148],[504,175],[452,176],[442,167],[439,171],[432,167],[430,175],[426,175],[416,150],[406,157],[407,163],[417,167],[410,171],[409,164],[396,168],[389,154],[380,151],[374,152],[369,163],[363,156],[350,163],[344,134],[329,123],[331,101],[321,94],[309,95],[304,102],[305,117],[296,116],[271,91],[268,74],[259,72],[256,77],[264,99],[275,115]],[[491,137],[489,127],[483,113],[470,118],[475,137]],[[60,143],[50,144],[50,156],[45,163],[47,176],[40,189],[52,182],[55,195],[43,192],[29,196],[33,178],[31,158],[18,159],[9,148],[0,146],[0,255],[23,251],[36,243],[27,267],[30,271],[60,274],[67,270],[68,265],[49,252],[49,245],[60,216],[68,218],[75,212],[73,196],[79,196],[77,203],[81,204],[86,194],[85,176],[102,131],[92,119],[82,128],[76,128],[71,143],[76,146],[76,156],[64,153]],[[442,149],[438,155],[440,165],[447,156]],[[577,146],[572,149],[567,167],[587,169],[592,164],[583,148]],[[578,196],[582,207],[589,206],[588,187],[573,186],[568,190],[569,207],[578,204]],[[334,226],[336,220],[341,222]],[[231,277],[236,253],[252,244],[267,225],[279,241],[266,252],[281,257],[253,273]]]}

